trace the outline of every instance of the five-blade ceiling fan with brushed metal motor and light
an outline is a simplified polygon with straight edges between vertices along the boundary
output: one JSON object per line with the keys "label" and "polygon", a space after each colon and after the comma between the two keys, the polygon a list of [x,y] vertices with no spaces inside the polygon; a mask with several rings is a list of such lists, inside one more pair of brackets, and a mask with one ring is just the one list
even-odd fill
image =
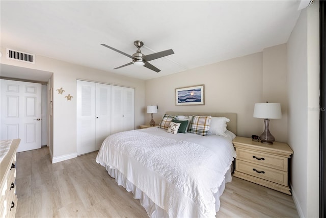
{"label": "five-blade ceiling fan with brushed metal motor and light", "polygon": [[153,66],[152,64],[148,63],[148,61],[174,54],[173,50],[169,49],[169,50],[162,51],[162,52],[156,52],[156,53],[153,53],[153,54],[150,54],[150,55],[144,55],[142,53],[142,51],[140,50],[141,47],[144,46],[144,43],[142,41],[140,41],[140,40],[136,40],[136,41],[133,42],[133,44],[137,47],[137,51],[132,56],[128,55],[128,54],[126,54],[124,52],[121,52],[121,51],[115,49],[114,47],[108,46],[106,44],[101,44],[101,45],[103,45],[104,47],[108,47],[109,49],[112,49],[113,51],[119,52],[120,54],[125,55],[125,56],[132,59],[132,61],[130,63],[124,64],[122,66],[118,66],[118,67],[116,67],[114,69],[119,69],[121,67],[125,67],[125,66],[128,66],[130,64],[134,64],[134,65],[138,65],[138,66],[147,67],[148,69],[154,70],[155,72],[159,72],[161,70],[158,69],[157,67]]}

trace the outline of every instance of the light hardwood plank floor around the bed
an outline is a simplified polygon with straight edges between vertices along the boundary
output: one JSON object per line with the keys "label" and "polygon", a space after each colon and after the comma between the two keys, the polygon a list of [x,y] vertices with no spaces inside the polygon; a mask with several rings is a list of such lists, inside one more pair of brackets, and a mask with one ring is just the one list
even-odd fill
{"label": "light hardwood plank floor around the bed", "polygon": [[[147,217],[139,200],[95,162],[97,152],[51,164],[49,150],[17,153],[16,217]],[[233,177],[216,217],[298,217],[291,196]]]}

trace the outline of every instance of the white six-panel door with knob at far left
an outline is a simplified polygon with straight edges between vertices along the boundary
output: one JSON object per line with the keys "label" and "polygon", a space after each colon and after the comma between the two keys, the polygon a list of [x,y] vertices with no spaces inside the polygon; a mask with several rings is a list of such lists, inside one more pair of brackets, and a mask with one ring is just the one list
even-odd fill
{"label": "white six-panel door with knob at far left", "polygon": [[17,152],[41,148],[42,85],[1,80],[1,140],[20,138]]}

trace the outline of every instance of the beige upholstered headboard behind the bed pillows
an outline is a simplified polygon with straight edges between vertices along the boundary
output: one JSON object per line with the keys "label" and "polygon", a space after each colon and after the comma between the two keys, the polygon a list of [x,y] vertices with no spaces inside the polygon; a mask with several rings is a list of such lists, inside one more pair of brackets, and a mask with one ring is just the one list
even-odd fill
{"label": "beige upholstered headboard behind the bed pillows", "polygon": [[183,112],[183,111],[167,111],[166,114],[168,115],[184,115],[184,116],[216,116],[216,117],[227,117],[230,119],[228,122],[227,129],[234,134],[236,134],[237,129],[237,114],[236,113],[219,113],[219,112]]}

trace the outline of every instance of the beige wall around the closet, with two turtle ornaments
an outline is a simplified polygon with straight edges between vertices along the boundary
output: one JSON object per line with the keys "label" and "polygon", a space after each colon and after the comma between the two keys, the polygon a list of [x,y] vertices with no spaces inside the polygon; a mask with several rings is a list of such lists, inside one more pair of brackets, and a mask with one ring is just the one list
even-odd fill
{"label": "beige wall around the closet, with two turtle ornaments", "polygon": [[[6,48],[1,47],[2,54]],[[57,161],[72,158],[76,155],[76,80],[83,79],[107,84],[121,85],[135,88],[135,127],[142,125],[145,120],[145,82],[119,76],[112,72],[96,70],[64,61],[36,56],[35,64],[1,58],[1,63],[26,68],[53,72],[53,123],[52,123],[52,152],[53,159]],[[56,89],[63,87],[64,94],[58,94]],[[72,95],[72,101],[64,96]],[[50,127],[51,128],[51,127]]]}

